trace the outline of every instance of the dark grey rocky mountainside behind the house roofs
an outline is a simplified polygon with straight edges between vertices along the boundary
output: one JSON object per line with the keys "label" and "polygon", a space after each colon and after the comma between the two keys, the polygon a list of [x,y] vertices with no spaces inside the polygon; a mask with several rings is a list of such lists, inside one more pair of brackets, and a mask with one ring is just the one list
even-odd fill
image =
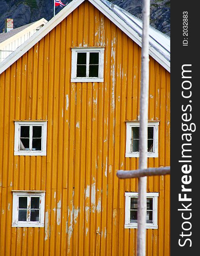
{"label": "dark grey rocky mountainside behind the house roofs", "polygon": [[[69,3],[71,0],[63,0]],[[112,0],[121,8],[142,19],[143,0]],[[57,14],[63,7],[55,7]],[[0,33],[4,20],[14,19],[14,28],[41,18],[50,20],[54,13],[54,0],[0,0]],[[150,25],[170,36],[170,0],[151,0]]]}

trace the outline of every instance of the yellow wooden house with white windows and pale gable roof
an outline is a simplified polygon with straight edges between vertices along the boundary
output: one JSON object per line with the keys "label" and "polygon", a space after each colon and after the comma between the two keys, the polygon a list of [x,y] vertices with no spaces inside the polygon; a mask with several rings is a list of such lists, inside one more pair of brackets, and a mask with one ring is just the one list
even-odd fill
{"label": "yellow wooden house with white windows and pale gable roof", "polygon": [[[0,64],[0,256],[134,256],[142,22],[73,0]],[[148,166],[170,165],[170,39],[150,28]],[[146,255],[170,255],[148,177]]]}

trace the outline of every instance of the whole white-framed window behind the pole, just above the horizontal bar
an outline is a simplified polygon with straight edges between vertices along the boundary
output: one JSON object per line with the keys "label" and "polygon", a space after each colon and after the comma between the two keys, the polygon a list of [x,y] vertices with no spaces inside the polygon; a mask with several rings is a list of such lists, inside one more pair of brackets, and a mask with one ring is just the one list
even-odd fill
{"label": "whole white-framed window behind the pole, just above the horizontal bar", "polygon": [[[148,122],[148,157],[158,157],[159,122]],[[126,122],[126,157],[140,157],[139,154],[140,122]]]}

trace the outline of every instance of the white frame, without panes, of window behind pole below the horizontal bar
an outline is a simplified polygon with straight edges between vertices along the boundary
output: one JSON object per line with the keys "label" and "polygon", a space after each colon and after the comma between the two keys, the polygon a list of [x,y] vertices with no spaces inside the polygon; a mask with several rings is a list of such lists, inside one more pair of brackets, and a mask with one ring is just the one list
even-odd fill
{"label": "white frame, without panes, of window behind pole below the horizontal bar", "polygon": [[[146,193],[146,198],[153,198],[153,223],[146,223],[147,229],[157,229],[157,199],[158,192]],[[138,198],[138,192],[125,192],[125,228],[137,228],[138,224],[130,223],[131,198]]]}

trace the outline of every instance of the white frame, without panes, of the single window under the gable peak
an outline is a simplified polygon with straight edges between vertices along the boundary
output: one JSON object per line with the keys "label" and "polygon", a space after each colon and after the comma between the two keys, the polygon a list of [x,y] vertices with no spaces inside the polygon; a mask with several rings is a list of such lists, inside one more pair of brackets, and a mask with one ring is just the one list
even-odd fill
{"label": "white frame, without panes, of the single window under the gable peak", "polygon": [[[86,52],[86,77],[77,77],[77,52]],[[89,77],[89,53],[99,52],[99,76]],[[103,82],[104,47],[71,48],[71,82]]]}

